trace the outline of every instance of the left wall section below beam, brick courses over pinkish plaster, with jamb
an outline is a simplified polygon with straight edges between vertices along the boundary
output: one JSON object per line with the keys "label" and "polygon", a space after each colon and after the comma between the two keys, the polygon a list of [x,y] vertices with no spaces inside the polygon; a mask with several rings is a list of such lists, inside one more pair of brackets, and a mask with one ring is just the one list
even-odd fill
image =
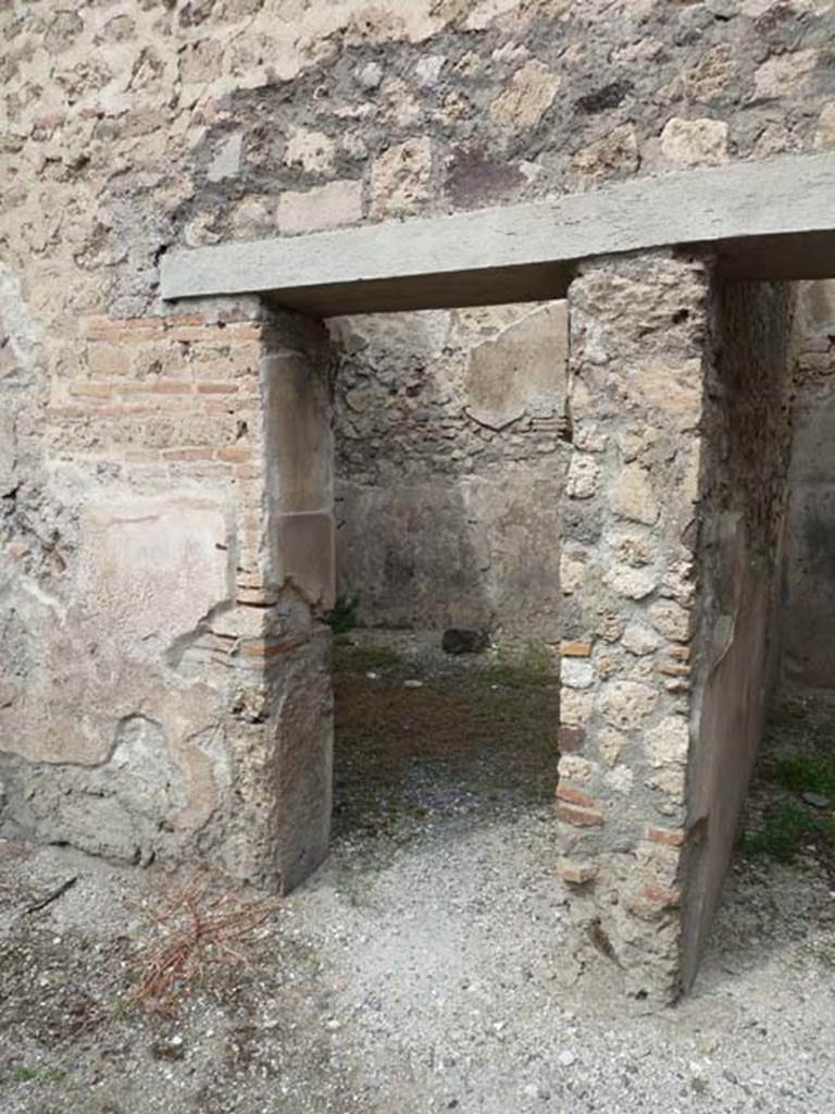
{"label": "left wall section below beam, brick courses over pinkish plaster, with jamb", "polygon": [[31,665],[0,678],[0,830],[291,888],[331,817],[323,325],[257,299],[86,316],[47,419],[53,526],[8,543]]}

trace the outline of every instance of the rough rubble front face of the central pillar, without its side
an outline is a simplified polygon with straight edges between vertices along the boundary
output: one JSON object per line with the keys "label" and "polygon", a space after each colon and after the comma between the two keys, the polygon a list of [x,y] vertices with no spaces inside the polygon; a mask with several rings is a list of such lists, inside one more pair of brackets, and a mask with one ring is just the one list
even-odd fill
{"label": "rough rubble front face of the central pillar, without its side", "polygon": [[613,960],[641,998],[680,966],[708,287],[658,253],[569,291],[560,873],[581,967]]}

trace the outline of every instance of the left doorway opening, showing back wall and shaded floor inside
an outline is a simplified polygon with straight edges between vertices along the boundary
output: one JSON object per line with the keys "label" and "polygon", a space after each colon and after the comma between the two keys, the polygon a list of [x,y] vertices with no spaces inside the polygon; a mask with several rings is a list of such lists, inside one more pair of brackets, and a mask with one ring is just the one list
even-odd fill
{"label": "left doorway opening, showing back wall and shaded floor inside", "polygon": [[564,305],[328,325],[335,851],[550,824]]}

